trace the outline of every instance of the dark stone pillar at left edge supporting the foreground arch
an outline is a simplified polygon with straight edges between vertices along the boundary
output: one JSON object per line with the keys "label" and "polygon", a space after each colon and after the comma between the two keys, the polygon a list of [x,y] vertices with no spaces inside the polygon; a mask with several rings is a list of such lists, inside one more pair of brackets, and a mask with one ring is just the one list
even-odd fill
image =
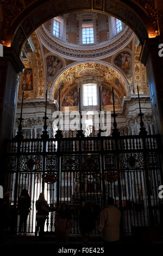
{"label": "dark stone pillar at left edge supporting the foreground arch", "polygon": [[[17,74],[23,68],[23,63],[16,56],[12,47],[4,47],[3,57],[0,57],[0,161],[2,165],[5,157],[4,142],[5,139],[11,136],[15,106],[17,104]],[[3,180],[3,173],[0,174],[0,177]]]}

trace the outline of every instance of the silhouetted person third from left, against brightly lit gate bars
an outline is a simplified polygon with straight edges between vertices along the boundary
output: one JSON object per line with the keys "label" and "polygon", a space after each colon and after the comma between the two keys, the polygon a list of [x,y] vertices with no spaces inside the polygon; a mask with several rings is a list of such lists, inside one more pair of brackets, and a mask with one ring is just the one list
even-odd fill
{"label": "silhouetted person third from left, against brightly lit gate bars", "polygon": [[37,232],[39,231],[40,239],[43,238],[44,226],[46,218],[49,214],[49,206],[47,201],[45,200],[44,194],[40,193],[39,199],[36,201],[36,230],[35,235],[37,236]]}

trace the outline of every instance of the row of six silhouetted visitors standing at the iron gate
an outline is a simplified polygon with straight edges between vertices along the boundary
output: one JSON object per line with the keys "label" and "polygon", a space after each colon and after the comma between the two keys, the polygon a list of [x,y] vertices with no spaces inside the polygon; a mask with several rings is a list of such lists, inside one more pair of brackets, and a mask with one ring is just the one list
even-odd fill
{"label": "row of six silhouetted visitors standing at the iron gate", "polygon": [[[10,210],[10,193],[4,194],[1,199],[1,220],[3,225],[1,231],[9,230],[11,210]],[[17,215],[19,215],[19,233],[26,235],[27,218],[30,212],[31,198],[28,191],[24,188],[18,197]],[[49,205],[45,200],[43,193],[40,193],[39,199],[35,203],[36,208],[36,225],[35,236],[39,233],[39,239],[43,240],[46,218],[49,215]],[[97,214],[92,202],[86,202],[81,206],[78,212],[80,233],[83,237],[83,245],[89,244],[90,233],[96,228]],[[114,205],[114,199],[108,198],[108,203],[99,215],[98,232],[102,234],[105,245],[117,243],[120,239],[120,221],[121,211]],[[74,226],[74,218],[71,210],[66,203],[62,203],[60,208],[55,212],[55,235],[58,244],[67,245],[70,235],[70,229]]]}

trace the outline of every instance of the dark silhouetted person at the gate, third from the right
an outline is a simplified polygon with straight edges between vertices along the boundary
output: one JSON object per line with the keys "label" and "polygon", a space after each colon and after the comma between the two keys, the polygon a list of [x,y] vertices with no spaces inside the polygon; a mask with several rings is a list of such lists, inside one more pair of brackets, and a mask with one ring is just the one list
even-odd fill
{"label": "dark silhouetted person at the gate, third from the right", "polygon": [[73,227],[73,219],[66,203],[62,203],[55,214],[54,227],[58,243],[67,244],[70,234],[70,227]]}

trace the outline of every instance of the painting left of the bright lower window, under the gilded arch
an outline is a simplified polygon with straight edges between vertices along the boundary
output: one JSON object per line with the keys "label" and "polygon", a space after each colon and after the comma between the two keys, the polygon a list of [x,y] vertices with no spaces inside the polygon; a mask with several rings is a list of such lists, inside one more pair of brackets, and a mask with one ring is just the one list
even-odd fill
{"label": "painting left of the bright lower window, under the gilded arch", "polygon": [[78,88],[75,87],[66,94],[62,102],[62,107],[78,106],[78,103],[79,103],[79,93],[78,93]]}

